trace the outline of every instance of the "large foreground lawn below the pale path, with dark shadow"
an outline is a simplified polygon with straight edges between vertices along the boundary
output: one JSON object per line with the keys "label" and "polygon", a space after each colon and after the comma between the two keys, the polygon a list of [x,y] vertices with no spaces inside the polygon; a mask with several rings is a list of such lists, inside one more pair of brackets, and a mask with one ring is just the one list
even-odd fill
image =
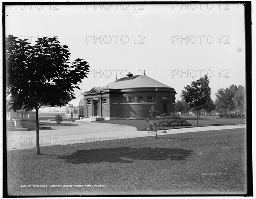
{"label": "large foreground lawn below the pale path, with dark shadow", "polygon": [[36,156],[35,149],[7,151],[9,194],[246,192],[246,145],[242,129],[160,135],[159,138],[41,147],[42,156]]}

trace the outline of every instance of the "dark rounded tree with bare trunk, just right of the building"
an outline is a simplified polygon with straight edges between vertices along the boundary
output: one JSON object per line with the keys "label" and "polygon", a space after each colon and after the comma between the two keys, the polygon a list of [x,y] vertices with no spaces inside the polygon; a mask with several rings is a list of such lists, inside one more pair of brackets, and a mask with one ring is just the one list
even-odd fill
{"label": "dark rounded tree with bare trunk, just right of the building", "polygon": [[191,85],[184,87],[181,91],[180,97],[196,111],[196,122],[198,124],[198,111],[201,106],[207,103],[209,100],[209,93],[207,89],[202,85],[202,79],[191,82]]}

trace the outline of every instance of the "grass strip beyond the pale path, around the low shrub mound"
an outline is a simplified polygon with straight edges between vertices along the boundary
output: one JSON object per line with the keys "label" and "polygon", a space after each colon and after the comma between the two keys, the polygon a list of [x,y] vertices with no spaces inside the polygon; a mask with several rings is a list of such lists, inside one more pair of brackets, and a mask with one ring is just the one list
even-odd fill
{"label": "grass strip beyond the pale path, around the low shrub mound", "polygon": [[[176,127],[167,126],[164,129],[242,124],[241,119],[220,119],[216,116],[209,116],[209,117],[201,116],[201,118],[198,118],[198,125],[196,124],[195,116],[184,116],[181,118],[189,122],[191,126],[176,126]],[[149,124],[146,122],[146,120],[128,120],[127,119],[127,120],[103,120],[103,121],[93,121],[93,122],[128,125],[128,126],[136,127],[138,131],[146,131],[145,128],[149,127]]]}

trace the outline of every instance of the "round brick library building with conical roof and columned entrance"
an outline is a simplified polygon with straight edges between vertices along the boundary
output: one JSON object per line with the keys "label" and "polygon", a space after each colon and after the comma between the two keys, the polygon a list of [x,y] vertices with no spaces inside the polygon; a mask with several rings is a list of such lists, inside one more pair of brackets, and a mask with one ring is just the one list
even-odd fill
{"label": "round brick library building with conical roof and columned entrance", "polygon": [[105,120],[148,118],[152,105],[162,113],[175,112],[175,89],[144,75],[127,74],[84,95],[84,117]]}

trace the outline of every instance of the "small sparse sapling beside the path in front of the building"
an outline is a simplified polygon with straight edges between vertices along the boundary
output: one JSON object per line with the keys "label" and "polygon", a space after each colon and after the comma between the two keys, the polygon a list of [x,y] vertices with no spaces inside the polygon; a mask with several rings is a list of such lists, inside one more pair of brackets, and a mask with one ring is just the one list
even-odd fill
{"label": "small sparse sapling beside the path in front of the building", "polygon": [[150,115],[150,117],[153,117],[153,122],[151,122],[149,119],[146,120],[148,123],[150,123],[149,128],[146,128],[146,130],[148,131],[148,133],[155,134],[156,139],[158,139],[157,134],[159,134],[159,133],[166,134],[167,133],[166,130],[163,130],[163,125],[162,125],[161,120],[156,121],[157,113],[158,113],[158,111],[155,110],[154,105],[153,105],[149,110],[149,115]]}

